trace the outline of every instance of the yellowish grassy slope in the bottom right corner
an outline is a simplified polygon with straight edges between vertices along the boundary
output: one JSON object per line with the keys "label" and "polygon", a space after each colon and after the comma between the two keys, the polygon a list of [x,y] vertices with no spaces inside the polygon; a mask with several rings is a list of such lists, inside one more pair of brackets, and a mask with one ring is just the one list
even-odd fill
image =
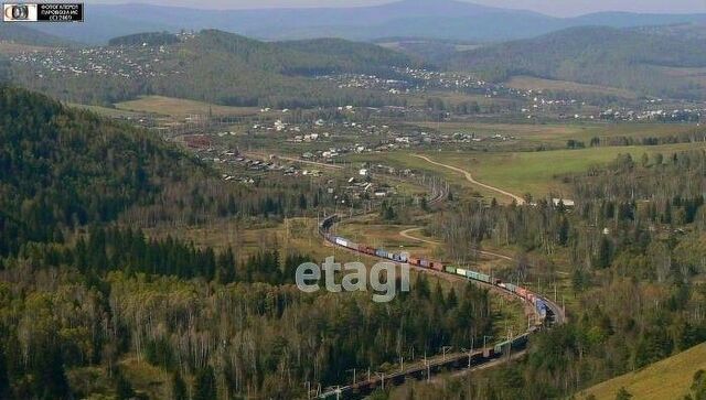
{"label": "yellowish grassy slope in the bottom right corner", "polygon": [[596,385],[582,391],[578,399],[593,394],[597,400],[612,400],[623,387],[633,399],[681,399],[688,393],[694,374],[699,369],[706,369],[706,343],[637,372]]}

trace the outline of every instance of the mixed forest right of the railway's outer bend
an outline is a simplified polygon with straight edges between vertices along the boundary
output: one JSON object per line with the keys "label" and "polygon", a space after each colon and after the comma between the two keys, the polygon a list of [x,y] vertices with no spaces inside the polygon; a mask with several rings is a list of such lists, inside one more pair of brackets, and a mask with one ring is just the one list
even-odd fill
{"label": "mixed forest right of the railway's outer bend", "polygon": [[454,259],[516,247],[514,267],[496,272],[505,280],[549,284],[556,260],[571,266],[569,323],[532,340],[525,360],[453,383],[449,398],[568,397],[706,340],[706,152],[623,154],[567,180],[576,207],[467,203],[428,228]]}

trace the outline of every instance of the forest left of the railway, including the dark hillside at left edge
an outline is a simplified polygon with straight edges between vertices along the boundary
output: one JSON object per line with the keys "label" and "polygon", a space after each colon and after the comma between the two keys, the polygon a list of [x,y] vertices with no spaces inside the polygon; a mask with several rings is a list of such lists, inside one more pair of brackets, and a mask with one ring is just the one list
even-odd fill
{"label": "forest left of the railway, including the dark hillside at left edge", "polygon": [[[189,226],[199,220],[183,215],[196,212],[302,215],[314,203],[303,187],[279,188],[291,206],[267,188],[190,188],[213,172],[147,132],[17,88],[1,89],[0,106],[3,399],[301,398],[307,382],[387,370],[492,329],[489,293],[471,284],[421,277],[385,304],[304,294],[292,279],[306,253],[147,237],[132,226]],[[162,383],[136,389],[135,363]]]}

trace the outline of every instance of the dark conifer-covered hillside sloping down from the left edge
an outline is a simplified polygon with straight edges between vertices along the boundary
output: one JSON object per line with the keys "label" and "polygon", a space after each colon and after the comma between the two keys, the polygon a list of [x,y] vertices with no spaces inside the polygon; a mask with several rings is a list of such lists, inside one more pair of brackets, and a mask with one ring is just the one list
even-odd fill
{"label": "dark conifer-covered hillside sloping down from the left edge", "polygon": [[[0,87],[0,258],[154,203],[204,167],[147,133]],[[205,173],[205,174],[204,174]]]}

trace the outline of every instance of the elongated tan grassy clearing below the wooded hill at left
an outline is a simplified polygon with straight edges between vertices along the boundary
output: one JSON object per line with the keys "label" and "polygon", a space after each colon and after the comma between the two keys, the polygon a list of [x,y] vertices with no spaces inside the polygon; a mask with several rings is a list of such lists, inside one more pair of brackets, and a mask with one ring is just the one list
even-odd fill
{"label": "elongated tan grassy clearing below the wooded hill at left", "polygon": [[142,96],[137,100],[118,102],[116,108],[128,111],[150,112],[176,118],[189,115],[248,116],[259,111],[255,107],[217,106],[203,101],[163,96]]}

